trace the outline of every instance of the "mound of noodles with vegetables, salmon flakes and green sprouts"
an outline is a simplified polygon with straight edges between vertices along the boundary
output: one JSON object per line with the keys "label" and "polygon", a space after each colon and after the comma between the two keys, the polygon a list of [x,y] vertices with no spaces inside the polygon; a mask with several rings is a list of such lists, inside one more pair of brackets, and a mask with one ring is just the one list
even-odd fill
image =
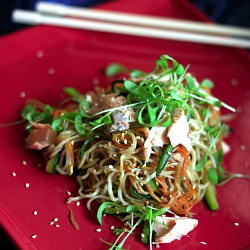
{"label": "mound of noodles with vegetables, salmon flakes and green sprouts", "polygon": [[[126,72],[111,65],[108,75]],[[198,83],[173,58],[163,55],[153,72],[131,71],[112,88],[80,93],[68,87],[60,107],[28,103],[28,148],[42,150],[50,173],[76,176],[79,195],[104,214],[126,222],[115,229],[110,249],[121,249],[144,224],[142,242],[169,243],[198,224],[192,208],[205,199],[218,209],[215,186],[225,178],[222,106],[211,81]]]}

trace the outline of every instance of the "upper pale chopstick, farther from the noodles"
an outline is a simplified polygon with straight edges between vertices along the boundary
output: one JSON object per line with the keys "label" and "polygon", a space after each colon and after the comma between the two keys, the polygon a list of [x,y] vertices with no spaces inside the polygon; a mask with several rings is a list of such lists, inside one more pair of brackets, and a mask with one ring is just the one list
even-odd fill
{"label": "upper pale chopstick, farther from the noodles", "polygon": [[156,28],[170,28],[174,30],[230,35],[250,38],[250,29],[198,21],[179,20],[174,18],[152,17],[138,14],[128,14],[107,10],[70,7],[58,3],[38,2],[36,10],[58,16],[74,16],[102,21],[111,21],[125,24],[137,24]]}

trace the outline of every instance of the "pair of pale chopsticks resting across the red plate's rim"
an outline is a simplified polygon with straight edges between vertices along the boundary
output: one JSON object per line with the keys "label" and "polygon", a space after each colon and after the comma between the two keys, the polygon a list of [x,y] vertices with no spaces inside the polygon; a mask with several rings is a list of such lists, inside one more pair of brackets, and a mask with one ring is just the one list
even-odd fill
{"label": "pair of pale chopsticks resting across the red plate's rim", "polygon": [[[66,17],[65,17],[66,16]],[[36,12],[16,9],[14,22],[124,35],[250,48],[250,29],[38,2]]]}

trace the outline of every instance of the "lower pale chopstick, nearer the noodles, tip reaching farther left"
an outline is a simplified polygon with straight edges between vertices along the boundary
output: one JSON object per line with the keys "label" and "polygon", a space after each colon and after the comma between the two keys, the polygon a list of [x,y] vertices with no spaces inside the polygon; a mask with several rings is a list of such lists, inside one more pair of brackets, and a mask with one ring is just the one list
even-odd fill
{"label": "lower pale chopstick, nearer the noodles, tip reaching farther left", "polygon": [[115,34],[133,35],[169,39],[175,41],[195,42],[203,44],[250,48],[250,41],[246,39],[219,37],[215,35],[197,34],[182,31],[164,30],[152,27],[126,25],[120,23],[108,23],[76,18],[63,18],[52,15],[43,15],[33,11],[14,10],[12,20],[15,22],[38,25],[54,25],[67,28],[85,29],[92,31],[108,32]]}

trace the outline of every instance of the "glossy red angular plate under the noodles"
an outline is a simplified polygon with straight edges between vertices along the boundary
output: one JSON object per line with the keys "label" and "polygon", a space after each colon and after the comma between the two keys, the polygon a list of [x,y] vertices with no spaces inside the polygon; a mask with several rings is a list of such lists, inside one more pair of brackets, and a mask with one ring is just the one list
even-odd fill
{"label": "glossy red angular plate under the noodles", "polygon": [[[119,0],[98,8],[206,21],[184,0],[144,0],[143,4]],[[212,79],[213,93],[237,108],[237,116],[230,123],[233,132],[227,140],[231,151],[224,165],[230,171],[250,174],[250,58],[241,49],[49,26],[28,28],[0,39],[0,123],[19,119],[26,99],[56,105],[65,86],[90,89],[94,81],[103,80],[103,70],[111,62],[151,71],[162,54],[190,65],[189,71],[198,80]],[[75,230],[65,200],[67,191],[77,192],[76,181],[49,175],[37,167],[43,160],[24,149],[24,137],[23,125],[0,128],[0,221],[12,241],[20,249],[107,249],[100,238],[113,241],[110,226],[121,225],[109,216],[103,226],[98,225],[95,209],[87,211],[86,202],[82,202],[80,207],[71,206],[80,226]],[[220,209],[211,212],[203,203],[197,205],[193,211],[198,227],[160,249],[250,249],[249,197],[247,179],[234,179],[219,187]],[[50,225],[54,218],[58,218],[58,227]],[[102,231],[97,233],[97,228]],[[37,237],[33,239],[32,235]],[[125,248],[148,247],[140,243],[137,232]]]}

